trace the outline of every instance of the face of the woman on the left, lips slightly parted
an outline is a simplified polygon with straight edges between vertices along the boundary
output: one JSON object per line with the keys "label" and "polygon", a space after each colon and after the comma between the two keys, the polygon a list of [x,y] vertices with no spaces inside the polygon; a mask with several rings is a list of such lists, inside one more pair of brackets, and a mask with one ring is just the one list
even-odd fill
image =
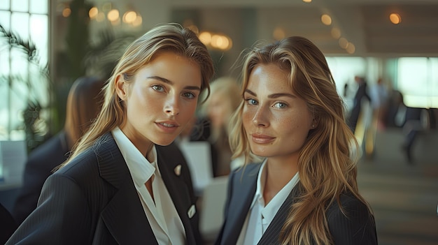
{"label": "face of the woman on the left, lips slightly parted", "polygon": [[201,83],[195,62],[173,52],[157,54],[132,83],[118,77],[118,95],[127,110],[120,128],[142,153],[151,142],[171,144],[195,114]]}

